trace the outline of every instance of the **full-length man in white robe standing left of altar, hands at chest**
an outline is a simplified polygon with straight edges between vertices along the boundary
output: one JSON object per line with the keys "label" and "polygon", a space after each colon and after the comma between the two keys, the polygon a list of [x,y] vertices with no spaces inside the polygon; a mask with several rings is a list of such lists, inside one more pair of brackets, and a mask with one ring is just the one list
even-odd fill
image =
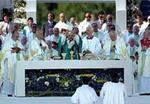
{"label": "full-length man in white robe standing left of altar, hands at chest", "polygon": [[2,52],[4,58],[2,60],[2,69],[4,70],[4,84],[2,87],[2,93],[13,94],[14,93],[14,81],[15,81],[15,64],[20,60],[20,51],[22,49],[21,42],[18,40],[19,32],[13,31],[12,37],[4,44]]}

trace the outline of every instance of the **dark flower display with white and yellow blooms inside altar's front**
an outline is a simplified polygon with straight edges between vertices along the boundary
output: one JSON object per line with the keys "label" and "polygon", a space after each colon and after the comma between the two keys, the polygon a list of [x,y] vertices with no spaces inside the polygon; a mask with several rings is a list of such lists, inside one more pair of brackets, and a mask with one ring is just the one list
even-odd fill
{"label": "dark flower display with white and yellow blooms inside altar's front", "polygon": [[[82,78],[90,79],[89,85],[97,94],[106,81],[111,80],[112,69],[48,69],[25,72],[26,96],[71,96],[81,86]],[[116,70],[115,70],[116,71]],[[122,69],[118,69],[118,73]]]}

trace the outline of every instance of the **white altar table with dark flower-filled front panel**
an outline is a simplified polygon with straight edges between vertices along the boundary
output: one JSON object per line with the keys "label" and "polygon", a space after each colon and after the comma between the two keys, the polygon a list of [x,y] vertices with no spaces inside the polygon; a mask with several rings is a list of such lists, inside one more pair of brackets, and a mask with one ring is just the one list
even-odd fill
{"label": "white altar table with dark flower-filled front panel", "polygon": [[132,64],[125,60],[50,60],[18,61],[16,65],[15,96],[71,96],[80,86],[81,77],[90,77],[99,93],[102,84],[118,72],[133,91]]}

